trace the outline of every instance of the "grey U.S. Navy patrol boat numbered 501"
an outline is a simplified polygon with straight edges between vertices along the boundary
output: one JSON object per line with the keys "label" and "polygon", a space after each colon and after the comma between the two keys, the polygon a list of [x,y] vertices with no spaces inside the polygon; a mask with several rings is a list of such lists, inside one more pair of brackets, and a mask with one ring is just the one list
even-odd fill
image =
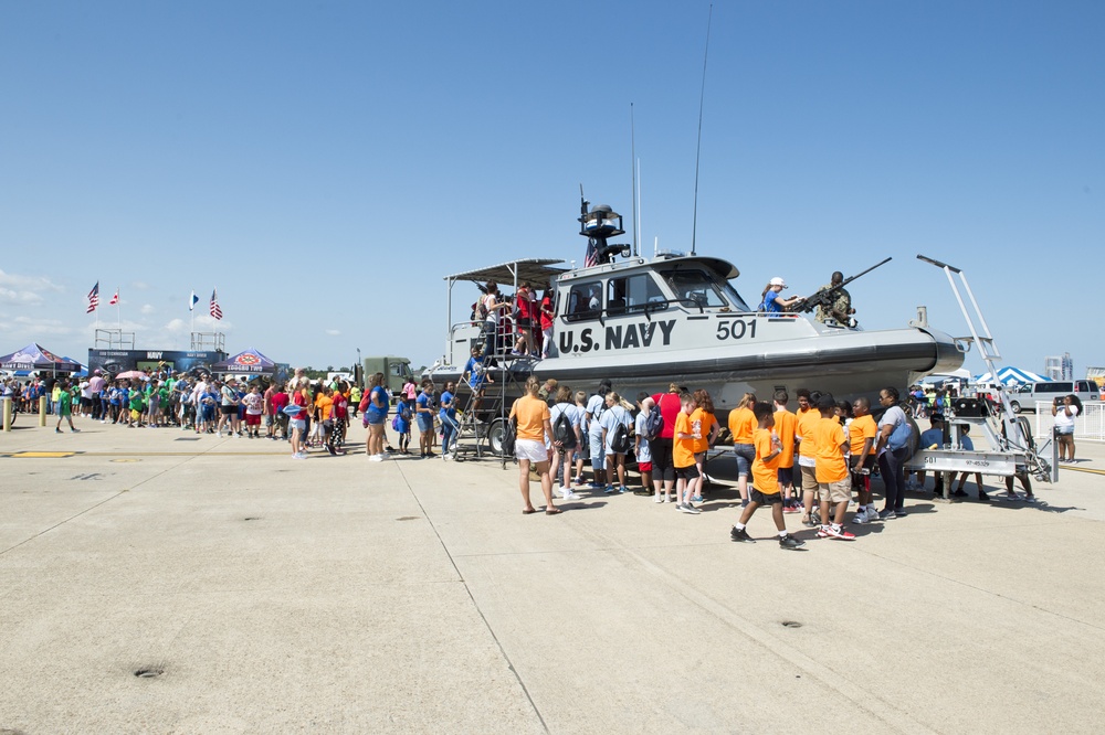
{"label": "grey U.S. Navy patrol boat numbered 501", "polygon": [[[583,201],[579,217],[580,234],[588,238],[583,267],[526,259],[445,278],[449,338],[444,355],[428,371],[435,383],[456,381],[462,402],[467,397],[462,371],[471,348],[484,343],[486,322],[473,312],[454,323],[452,290],[460,281],[482,288],[488,280],[507,288],[513,284],[515,290],[523,281],[535,288],[547,283],[555,294],[547,358],[509,355],[509,329],[501,332],[498,353],[486,356],[495,365],[490,369],[495,383],[487,386],[488,394],[501,393],[506,408],[529,375],[588,392],[609,379],[613,390],[630,400],[640,391],[666,392],[675,383],[709,391],[724,425],[725,415],[746,392],[769,401],[778,390],[793,396],[808,387],[831,392],[838,400],[865,395],[877,406],[882,387],[905,388],[929,373],[962,364],[965,347],[932,329],[927,319],[870,331],[854,319],[813,319],[815,306],[830,308],[835,289],[804,299],[798,311],[759,311],[737,290],[740,274],[728,260],[632,255],[630,245],[609,243],[624,234],[621,215],[609,206],[588,206]],[[487,402],[483,411],[499,414],[498,407]]]}

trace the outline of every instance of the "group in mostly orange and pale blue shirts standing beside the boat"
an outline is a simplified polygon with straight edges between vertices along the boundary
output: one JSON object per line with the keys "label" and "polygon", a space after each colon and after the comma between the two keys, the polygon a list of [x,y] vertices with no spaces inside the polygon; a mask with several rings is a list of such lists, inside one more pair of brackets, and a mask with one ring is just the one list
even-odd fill
{"label": "group in mostly orange and pale blue shirts standing beside the boat", "polygon": [[[551,385],[550,385],[551,383]],[[534,377],[511,409],[514,454],[519,466],[523,513],[536,512],[530,498],[530,471],[537,472],[546,514],[560,512],[555,496],[572,500],[576,490],[629,492],[625,458],[636,458],[642,489],[656,503],[697,515],[704,497],[706,458],[722,434],[708,392],[672,384],[666,393],[641,393],[630,404],[609,381],[587,395]],[[544,396],[543,396],[544,392]],[[546,397],[547,396],[547,397]],[[754,542],[747,523],[762,505],[771,508],[783,548],[803,542],[787,530],[785,513],[801,514],[803,526],[823,539],[852,541],[845,529],[853,493],[859,509],[851,522],[863,524],[902,518],[905,469],[915,445],[913,424],[898,406],[897,388],[880,392],[882,417],[871,415],[870,402],[836,402],[832,395],[799,390],[798,411],[779,391],[771,402],[745,394],[729,412],[728,432],[737,462],[741,513],[730,536]],[[635,408],[636,415],[633,416]],[[591,477],[583,475],[585,457]],[[883,478],[884,504],[875,507],[871,473]]]}

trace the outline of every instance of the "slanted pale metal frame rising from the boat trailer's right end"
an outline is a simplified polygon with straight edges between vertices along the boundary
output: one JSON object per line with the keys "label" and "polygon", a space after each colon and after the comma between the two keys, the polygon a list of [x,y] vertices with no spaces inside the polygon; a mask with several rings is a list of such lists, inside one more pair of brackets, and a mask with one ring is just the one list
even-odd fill
{"label": "slanted pale metal frame rising from the boat trailer's right end", "polygon": [[[990,374],[997,376],[998,368],[994,361],[1001,360],[1001,353],[998,352],[998,345],[993,340],[993,334],[990,333],[990,327],[986,323],[986,318],[982,316],[978,300],[970,289],[970,284],[967,283],[967,275],[960,268],[924,255],[918,255],[917,259],[936,266],[947,276],[948,284],[951,286],[951,292],[955,294],[956,302],[959,305],[959,311],[967,321],[967,329],[970,330],[969,338],[964,337],[958,339],[978,345],[979,353],[982,361],[986,362]],[[962,290],[960,290],[960,287]],[[966,294],[970,307],[964,300],[964,294]],[[1059,469],[1055,466],[1054,457],[1049,461],[1040,454],[1032,438],[1032,430],[1028,420],[1013,413],[1009,395],[1000,385],[998,396],[1001,402],[999,429],[994,430],[992,427],[987,426],[983,430],[990,446],[999,452],[1019,455],[1021,461],[1023,461],[1025,471],[1034,476],[1038,480],[1043,482],[1056,481],[1059,479]],[[1041,448],[1046,448],[1050,441],[1045,443]],[[1054,447],[1052,447],[1052,454],[1054,455]]]}

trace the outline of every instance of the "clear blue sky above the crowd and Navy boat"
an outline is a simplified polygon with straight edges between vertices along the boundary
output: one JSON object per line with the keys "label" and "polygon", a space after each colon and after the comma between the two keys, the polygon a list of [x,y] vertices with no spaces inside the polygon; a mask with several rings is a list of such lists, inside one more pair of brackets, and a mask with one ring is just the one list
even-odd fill
{"label": "clear blue sky above the crowd and Navy boat", "polygon": [[[217,286],[231,352],[429,364],[443,276],[581,262],[580,183],[629,221],[630,104],[641,242],[685,249],[707,13],[0,3],[0,350],[85,359],[98,279],[139,348],[187,348]],[[966,333],[925,253],[966,270],[1003,362],[1105,364],[1103,26],[1101,2],[715,3],[698,252],[749,300],[893,256],[851,288],[861,323],[926,305]]]}

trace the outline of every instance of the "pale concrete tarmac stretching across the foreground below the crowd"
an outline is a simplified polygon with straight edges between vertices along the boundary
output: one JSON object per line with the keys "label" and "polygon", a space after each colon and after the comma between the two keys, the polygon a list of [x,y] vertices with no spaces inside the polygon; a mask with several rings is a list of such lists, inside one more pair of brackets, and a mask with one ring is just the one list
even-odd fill
{"label": "pale concrete tarmac stretching across the foreground below the crowd", "polygon": [[1099,445],[1036,505],[787,515],[788,552],[767,509],[729,541],[727,482],[524,515],[513,465],[369,462],[359,423],[306,460],[76,423],[0,436],[0,733],[1105,727]]}

